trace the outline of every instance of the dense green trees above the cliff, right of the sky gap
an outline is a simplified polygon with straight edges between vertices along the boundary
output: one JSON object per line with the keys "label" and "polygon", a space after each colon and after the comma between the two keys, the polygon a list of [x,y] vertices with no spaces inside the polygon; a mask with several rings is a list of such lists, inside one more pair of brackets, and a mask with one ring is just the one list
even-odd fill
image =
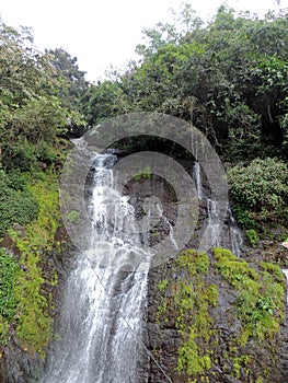
{"label": "dense green trees above the cliff, right of the sky gap", "polygon": [[191,4],[143,31],[139,65],[88,90],[89,124],[140,111],[184,118],[229,161],[286,156],[287,16],[237,14],[205,25]]}

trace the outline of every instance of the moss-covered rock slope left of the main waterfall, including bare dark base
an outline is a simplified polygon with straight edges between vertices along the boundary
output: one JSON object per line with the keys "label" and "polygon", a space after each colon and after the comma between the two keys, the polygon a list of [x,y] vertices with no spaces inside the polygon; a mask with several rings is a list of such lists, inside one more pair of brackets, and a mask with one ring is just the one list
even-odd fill
{"label": "moss-covered rock slope left of the main waterfall, including bare dark base", "polygon": [[[27,382],[41,369],[54,338],[54,290],[58,280],[51,257],[60,252],[58,176],[54,172],[30,176],[27,187],[39,206],[26,227],[10,229],[1,241],[0,381]],[[21,230],[20,230],[21,229]],[[14,255],[12,255],[14,254]]]}

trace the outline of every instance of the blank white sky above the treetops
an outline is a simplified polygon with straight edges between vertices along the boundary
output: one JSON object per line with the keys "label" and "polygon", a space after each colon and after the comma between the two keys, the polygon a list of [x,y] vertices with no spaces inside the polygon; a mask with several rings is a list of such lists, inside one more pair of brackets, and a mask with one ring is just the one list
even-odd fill
{"label": "blank white sky above the treetops", "polygon": [[[169,19],[183,0],[0,0],[5,24],[32,26],[36,46],[61,47],[78,58],[87,78],[96,81],[104,70],[120,67],[135,58],[141,31]],[[198,15],[210,19],[223,0],[187,0]],[[288,5],[281,1],[281,8]],[[237,10],[260,15],[277,9],[276,0],[228,0]]]}

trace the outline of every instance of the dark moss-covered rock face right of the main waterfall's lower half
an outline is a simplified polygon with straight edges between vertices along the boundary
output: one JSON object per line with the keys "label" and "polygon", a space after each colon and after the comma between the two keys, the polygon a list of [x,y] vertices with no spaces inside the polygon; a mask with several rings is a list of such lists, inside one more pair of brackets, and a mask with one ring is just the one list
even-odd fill
{"label": "dark moss-covered rock face right of the main waterfall's lower half", "polygon": [[[150,347],[172,382],[287,381],[278,266],[188,249],[151,270],[149,293]],[[166,382],[153,363],[151,382]]]}

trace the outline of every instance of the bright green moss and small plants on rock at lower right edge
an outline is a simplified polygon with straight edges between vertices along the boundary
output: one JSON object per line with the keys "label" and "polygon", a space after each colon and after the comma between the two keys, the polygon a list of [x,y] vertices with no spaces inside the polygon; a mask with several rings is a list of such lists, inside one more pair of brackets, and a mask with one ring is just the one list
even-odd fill
{"label": "bright green moss and small plants on rock at lower right edge", "polygon": [[215,248],[214,255],[215,267],[239,291],[235,307],[243,326],[240,343],[245,345],[250,337],[275,337],[285,316],[285,283],[279,267],[262,263],[263,270],[257,272],[228,249]]}

